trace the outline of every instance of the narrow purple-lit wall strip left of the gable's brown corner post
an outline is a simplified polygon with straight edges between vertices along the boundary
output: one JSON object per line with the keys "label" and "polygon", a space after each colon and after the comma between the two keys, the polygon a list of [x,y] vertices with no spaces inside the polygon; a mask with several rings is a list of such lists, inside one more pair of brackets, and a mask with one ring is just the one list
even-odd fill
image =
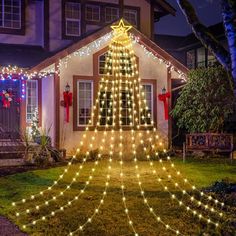
{"label": "narrow purple-lit wall strip left of the gable's brown corner post", "polygon": [[55,92],[53,76],[42,79],[42,129],[50,129],[49,136],[55,144]]}

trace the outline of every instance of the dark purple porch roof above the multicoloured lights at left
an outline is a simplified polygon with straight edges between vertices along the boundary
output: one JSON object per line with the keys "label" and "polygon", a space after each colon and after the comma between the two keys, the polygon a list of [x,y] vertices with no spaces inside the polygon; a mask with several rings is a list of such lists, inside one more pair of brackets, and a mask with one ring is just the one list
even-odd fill
{"label": "dark purple porch roof above the multicoloured lights at left", "polygon": [[40,46],[0,44],[0,65],[30,68],[51,55]]}

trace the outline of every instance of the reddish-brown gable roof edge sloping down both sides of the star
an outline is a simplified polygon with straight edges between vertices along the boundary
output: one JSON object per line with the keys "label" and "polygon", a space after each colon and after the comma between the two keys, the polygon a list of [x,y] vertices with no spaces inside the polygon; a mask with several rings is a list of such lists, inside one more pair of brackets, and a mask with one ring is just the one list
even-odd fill
{"label": "reddish-brown gable roof edge sloping down both sides of the star", "polygon": [[[118,22],[118,21],[116,21],[116,22]],[[91,34],[87,35],[86,37],[84,37],[84,38],[78,40],[77,42],[74,42],[71,45],[65,47],[64,49],[56,52],[54,55],[48,57],[47,59],[45,59],[41,63],[39,63],[37,66],[33,67],[32,71],[41,71],[41,70],[45,69],[46,67],[51,66],[54,63],[58,63],[60,59],[63,59],[64,57],[74,53],[75,51],[81,49],[82,47],[88,45],[89,43],[92,43],[94,40],[111,32],[111,25],[112,24],[108,24],[107,26],[105,26],[101,29],[98,29],[95,32],[92,32]],[[177,69],[181,70],[184,73],[186,73],[188,71],[188,69],[183,64],[181,64],[177,59],[175,59],[169,53],[167,53],[162,48],[160,48],[157,44],[155,44],[153,41],[151,41],[148,37],[146,37],[144,34],[142,34],[136,28],[133,27],[130,30],[130,32],[133,33],[135,36],[139,37],[140,43],[144,44],[146,46],[146,48],[149,51],[151,51],[154,55],[157,55],[160,58],[171,62]]]}

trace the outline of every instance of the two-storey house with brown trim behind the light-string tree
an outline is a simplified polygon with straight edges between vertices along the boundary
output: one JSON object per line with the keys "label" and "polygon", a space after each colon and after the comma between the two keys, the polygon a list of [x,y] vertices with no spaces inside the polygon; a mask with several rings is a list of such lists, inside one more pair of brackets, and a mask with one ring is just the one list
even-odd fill
{"label": "two-storey house with brown trim behind the light-string tree", "polygon": [[[8,4],[6,2],[2,0],[2,6]],[[52,143],[73,154],[97,98],[112,36],[111,25],[123,17],[133,26],[130,33],[136,42],[134,53],[154,125],[168,144],[171,120],[165,120],[163,102],[157,97],[163,88],[170,91],[172,79],[182,80],[187,68],[152,41],[154,22],[175,13],[166,1],[45,0],[24,3],[18,0],[11,3],[9,11],[11,23],[5,17],[0,29],[0,53],[5,52],[5,56],[1,53],[0,64],[14,63],[26,71],[18,76],[30,74],[31,79],[18,83],[12,78],[8,85],[5,77],[0,81],[0,87],[4,83],[4,88],[8,86],[15,93],[25,93],[20,101],[13,101],[9,109],[0,108],[0,123],[3,123],[5,134],[11,135],[15,131],[17,136],[19,130],[30,126],[37,108],[40,125],[43,129],[50,128]],[[16,11],[21,14],[15,16]],[[2,74],[6,71],[5,68]],[[9,71],[14,75],[12,70]],[[63,106],[67,85],[73,93],[69,122],[66,122]]]}

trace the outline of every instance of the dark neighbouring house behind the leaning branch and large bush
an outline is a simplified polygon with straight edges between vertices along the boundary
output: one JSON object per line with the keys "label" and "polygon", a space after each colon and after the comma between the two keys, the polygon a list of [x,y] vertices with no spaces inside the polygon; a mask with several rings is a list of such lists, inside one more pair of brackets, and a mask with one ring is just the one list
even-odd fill
{"label": "dark neighbouring house behind the leaning branch and large bush", "polygon": [[[227,39],[225,37],[225,30],[223,23],[217,23],[208,27],[209,31],[219,40],[227,49]],[[155,35],[155,42],[158,46],[170,53],[174,58],[180,61],[188,69],[207,68],[214,65],[219,65],[215,56],[208,48],[205,48],[202,43],[195,37],[193,33],[186,36],[175,35]],[[175,105],[179,96],[179,92],[183,84],[179,80],[172,80],[172,107]],[[236,90],[235,90],[236,94]],[[179,132],[172,121],[172,138],[174,138],[175,145],[182,145],[185,140],[184,131]],[[225,131],[229,133],[236,133],[236,104],[234,114],[225,122]],[[181,137],[180,137],[181,136]],[[177,138],[178,137],[178,138]]]}

